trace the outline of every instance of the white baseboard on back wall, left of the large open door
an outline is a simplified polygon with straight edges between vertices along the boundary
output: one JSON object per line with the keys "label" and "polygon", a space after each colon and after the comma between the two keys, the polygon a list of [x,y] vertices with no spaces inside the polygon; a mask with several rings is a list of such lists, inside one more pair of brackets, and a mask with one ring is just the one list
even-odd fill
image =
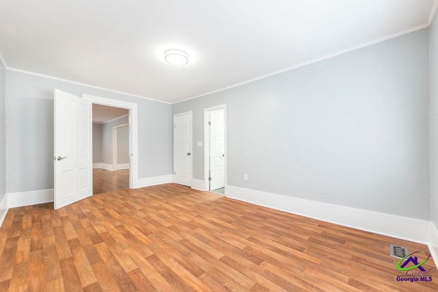
{"label": "white baseboard on back wall, left of the large open door", "polygon": [[8,196],[8,208],[24,207],[32,204],[53,202],[53,189],[9,193],[6,196]]}

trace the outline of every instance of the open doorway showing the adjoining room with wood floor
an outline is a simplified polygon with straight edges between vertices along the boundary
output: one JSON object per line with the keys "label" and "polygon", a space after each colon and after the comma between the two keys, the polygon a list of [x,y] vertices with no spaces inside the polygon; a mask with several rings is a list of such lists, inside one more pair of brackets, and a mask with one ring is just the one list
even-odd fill
{"label": "open doorway showing the adjoining room with wood floor", "polygon": [[129,110],[92,105],[93,194],[129,189]]}

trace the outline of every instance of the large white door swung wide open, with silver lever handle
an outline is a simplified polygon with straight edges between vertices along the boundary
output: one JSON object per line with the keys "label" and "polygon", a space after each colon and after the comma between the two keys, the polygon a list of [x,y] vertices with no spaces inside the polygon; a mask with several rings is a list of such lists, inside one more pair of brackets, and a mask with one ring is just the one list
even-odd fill
{"label": "large white door swung wide open, with silver lever handle", "polygon": [[91,119],[89,101],[55,90],[55,209],[92,195]]}

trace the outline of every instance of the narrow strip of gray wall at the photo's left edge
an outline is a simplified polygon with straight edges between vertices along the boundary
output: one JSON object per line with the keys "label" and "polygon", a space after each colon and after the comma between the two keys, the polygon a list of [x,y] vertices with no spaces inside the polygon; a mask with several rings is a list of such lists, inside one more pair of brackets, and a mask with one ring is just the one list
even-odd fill
{"label": "narrow strip of gray wall at the photo's left edge", "polygon": [[0,62],[0,202],[6,193],[5,66]]}

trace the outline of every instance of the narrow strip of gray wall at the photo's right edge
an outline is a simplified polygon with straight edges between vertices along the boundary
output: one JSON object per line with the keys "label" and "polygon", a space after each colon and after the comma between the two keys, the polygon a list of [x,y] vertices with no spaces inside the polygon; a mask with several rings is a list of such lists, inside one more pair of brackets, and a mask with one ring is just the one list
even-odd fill
{"label": "narrow strip of gray wall at the photo's right edge", "polygon": [[429,27],[430,52],[430,211],[438,228],[438,13]]}

